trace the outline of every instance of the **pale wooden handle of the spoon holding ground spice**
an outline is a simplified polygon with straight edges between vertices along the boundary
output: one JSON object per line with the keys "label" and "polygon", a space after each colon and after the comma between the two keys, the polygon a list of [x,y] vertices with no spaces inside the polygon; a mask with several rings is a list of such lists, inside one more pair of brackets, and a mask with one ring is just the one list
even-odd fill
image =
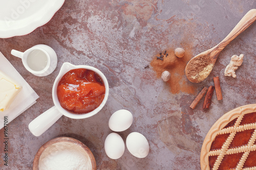
{"label": "pale wooden handle of the spoon holding ground spice", "polygon": [[248,11],[244,17],[238,22],[236,27],[224,38],[218,45],[219,50],[223,48],[234,38],[236,38],[240,33],[247,29],[256,20],[256,9],[251,9]]}

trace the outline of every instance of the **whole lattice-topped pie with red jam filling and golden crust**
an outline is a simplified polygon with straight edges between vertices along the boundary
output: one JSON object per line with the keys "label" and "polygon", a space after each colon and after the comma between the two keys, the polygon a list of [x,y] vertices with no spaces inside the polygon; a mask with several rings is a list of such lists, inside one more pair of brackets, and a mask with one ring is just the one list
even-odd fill
{"label": "whole lattice-topped pie with red jam filling and golden crust", "polygon": [[224,114],[207,133],[201,169],[256,169],[256,104]]}

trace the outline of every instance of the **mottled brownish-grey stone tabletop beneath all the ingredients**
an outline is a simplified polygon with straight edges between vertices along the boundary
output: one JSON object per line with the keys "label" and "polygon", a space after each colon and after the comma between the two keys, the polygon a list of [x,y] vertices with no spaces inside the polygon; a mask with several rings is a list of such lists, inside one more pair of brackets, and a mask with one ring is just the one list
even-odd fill
{"label": "mottled brownish-grey stone tabletop beneath all the ingredients", "polygon": [[[0,39],[0,51],[40,97],[9,124],[8,167],[3,165],[0,130],[1,169],[32,169],[41,145],[59,136],[86,144],[98,169],[200,169],[200,150],[210,127],[229,110],[255,103],[256,23],[224,48],[206,80],[192,84],[195,94],[171,93],[172,87],[157,78],[151,66],[144,67],[167,48],[189,44],[195,56],[215,46],[252,8],[256,8],[254,0],[67,0],[46,25],[25,36]],[[25,51],[36,44],[47,44],[57,53],[57,68],[47,77],[33,76],[10,54],[12,49]],[[224,77],[231,56],[240,54],[245,57],[237,78]],[[53,106],[52,85],[64,62],[100,69],[110,84],[109,100],[98,114],[87,119],[62,116],[35,137],[28,124]],[[196,94],[213,85],[215,76],[221,80],[223,101],[214,94],[208,110],[202,109],[202,101],[191,110]],[[104,139],[111,133],[108,119],[119,109],[134,115],[131,128],[119,134],[125,140],[131,132],[142,133],[150,143],[146,158],[136,158],[127,149],[120,159],[106,156]]]}

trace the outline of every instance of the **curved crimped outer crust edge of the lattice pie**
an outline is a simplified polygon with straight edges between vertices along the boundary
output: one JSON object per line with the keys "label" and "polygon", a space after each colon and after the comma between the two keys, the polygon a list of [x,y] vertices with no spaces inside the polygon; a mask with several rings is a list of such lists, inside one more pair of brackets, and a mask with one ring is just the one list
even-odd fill
{"label": "curved crimped outer crust edge of the lattice pie", "polygon": [[201,156],[200,156],[200,164],[202,170],[208,170],[210,169],[209,166],[209,158],[208,153],[210,152],[210,147],[212,141],[214,141],[217,134],[233,119],[237,118],[240,115],[244,115],[247,113],[256,112],[256,104],[250,104],[250,105],[244,105],[241,107],[238,107],[236,109],[233,109],[223,116],[221,116],[217,122],[212,125],[210,130],[208,131],[203,145],[201,149]]}

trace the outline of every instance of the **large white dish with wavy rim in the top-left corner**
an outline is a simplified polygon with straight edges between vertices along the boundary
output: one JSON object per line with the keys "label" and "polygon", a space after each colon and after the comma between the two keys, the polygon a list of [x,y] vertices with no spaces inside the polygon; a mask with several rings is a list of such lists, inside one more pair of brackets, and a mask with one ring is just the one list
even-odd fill
{"label": "large white dish with wavy rim in the top-left corner", "polygon": [[0,38],[26,35],[45,25],[65,0],[0,0]]}

